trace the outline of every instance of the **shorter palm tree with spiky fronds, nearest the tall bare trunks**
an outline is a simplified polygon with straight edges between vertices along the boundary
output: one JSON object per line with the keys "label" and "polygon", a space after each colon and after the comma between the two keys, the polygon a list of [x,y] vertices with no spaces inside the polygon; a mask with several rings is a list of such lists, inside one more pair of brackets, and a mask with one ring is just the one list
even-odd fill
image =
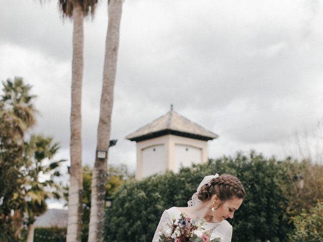
{"label": "shorter palm tree with spiky fronds, nearest the tall bare trunks", "polygon": [[[52,138],[45,138],[41,135],[32,135],[25,147],[25,165],[21,167],[23,176],[23,196],[25,198],[24,211],[28,215],[28,236],[27,242],[33,241],[35,217],[47,210],[46,199],[62,197],[61,187],[53,179],[60,176],[57,169],[61,159],[53,160],[59,149],[58,143],[53,143]],[[49,160],[49,164],[48,163]]]}

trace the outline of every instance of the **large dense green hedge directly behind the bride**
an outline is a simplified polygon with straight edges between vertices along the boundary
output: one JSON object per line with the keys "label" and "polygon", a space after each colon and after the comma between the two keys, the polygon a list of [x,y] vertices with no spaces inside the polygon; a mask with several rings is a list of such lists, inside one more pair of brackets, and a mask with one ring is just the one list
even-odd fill
{"label": "large dense green hedge directly behind the bride", "polygon": [[240,178],[247,197],[235,217],[235,241],[288,241],[292,227],[285,215],[288,200],[280,186],[275,159],[265,159],[253,151],[245,156],[222,157],[205,164],[182,168],[124,184],[106,210],[105,241],[151,241],[160,216],[172,206],[187,206],[205,175],[230,173]]}

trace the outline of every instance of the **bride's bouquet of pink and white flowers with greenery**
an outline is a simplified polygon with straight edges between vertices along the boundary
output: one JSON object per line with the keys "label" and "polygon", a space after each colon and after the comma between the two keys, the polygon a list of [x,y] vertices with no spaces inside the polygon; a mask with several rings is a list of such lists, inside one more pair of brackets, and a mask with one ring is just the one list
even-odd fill
{"label": "bride's bouquet of pink and white flowers with greenery", "polygon": [[221,238],[210,240],[213,230],[218,225],[205,230],[205,224],[205,219],[191,219],[181,213],[177,221],[173,219],[171,223],[167,223],[169,228],[161,230],[159,242],[220,242]]}

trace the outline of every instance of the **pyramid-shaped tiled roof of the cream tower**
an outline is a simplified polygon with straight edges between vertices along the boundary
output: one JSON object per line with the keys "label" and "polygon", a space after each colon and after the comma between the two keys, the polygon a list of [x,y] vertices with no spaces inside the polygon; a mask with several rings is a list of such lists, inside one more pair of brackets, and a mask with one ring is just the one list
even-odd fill
{"label": "pyramid-shaped tiled roof of the cream tower", "polygon": [[171,109],[163,116],[153,120],[150,124],[145,125],[128,135],[126,139],[131,141],[142,141],[166,134],[173,134],[198,140],[212,140],[218,138],[217,134],[206,130],[202,126],[192,122],[188,118]]}

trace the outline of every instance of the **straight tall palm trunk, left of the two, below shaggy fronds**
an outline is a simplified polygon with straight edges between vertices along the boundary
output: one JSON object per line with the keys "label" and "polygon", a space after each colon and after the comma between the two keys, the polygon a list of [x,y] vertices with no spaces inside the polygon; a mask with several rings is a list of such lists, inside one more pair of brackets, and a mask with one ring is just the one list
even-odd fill
{"label": "straight tall palm trunk, left of the two, below shaggy fronds", "polygon": [[78,1],[73,6],[73,61],[71,94],[71,180],[69,189],[69,212],[67,225],[67,242],[81,241],[82,228],[82,140],[81,140],[81,100],[83,76],[83,20],[84,14]]}

